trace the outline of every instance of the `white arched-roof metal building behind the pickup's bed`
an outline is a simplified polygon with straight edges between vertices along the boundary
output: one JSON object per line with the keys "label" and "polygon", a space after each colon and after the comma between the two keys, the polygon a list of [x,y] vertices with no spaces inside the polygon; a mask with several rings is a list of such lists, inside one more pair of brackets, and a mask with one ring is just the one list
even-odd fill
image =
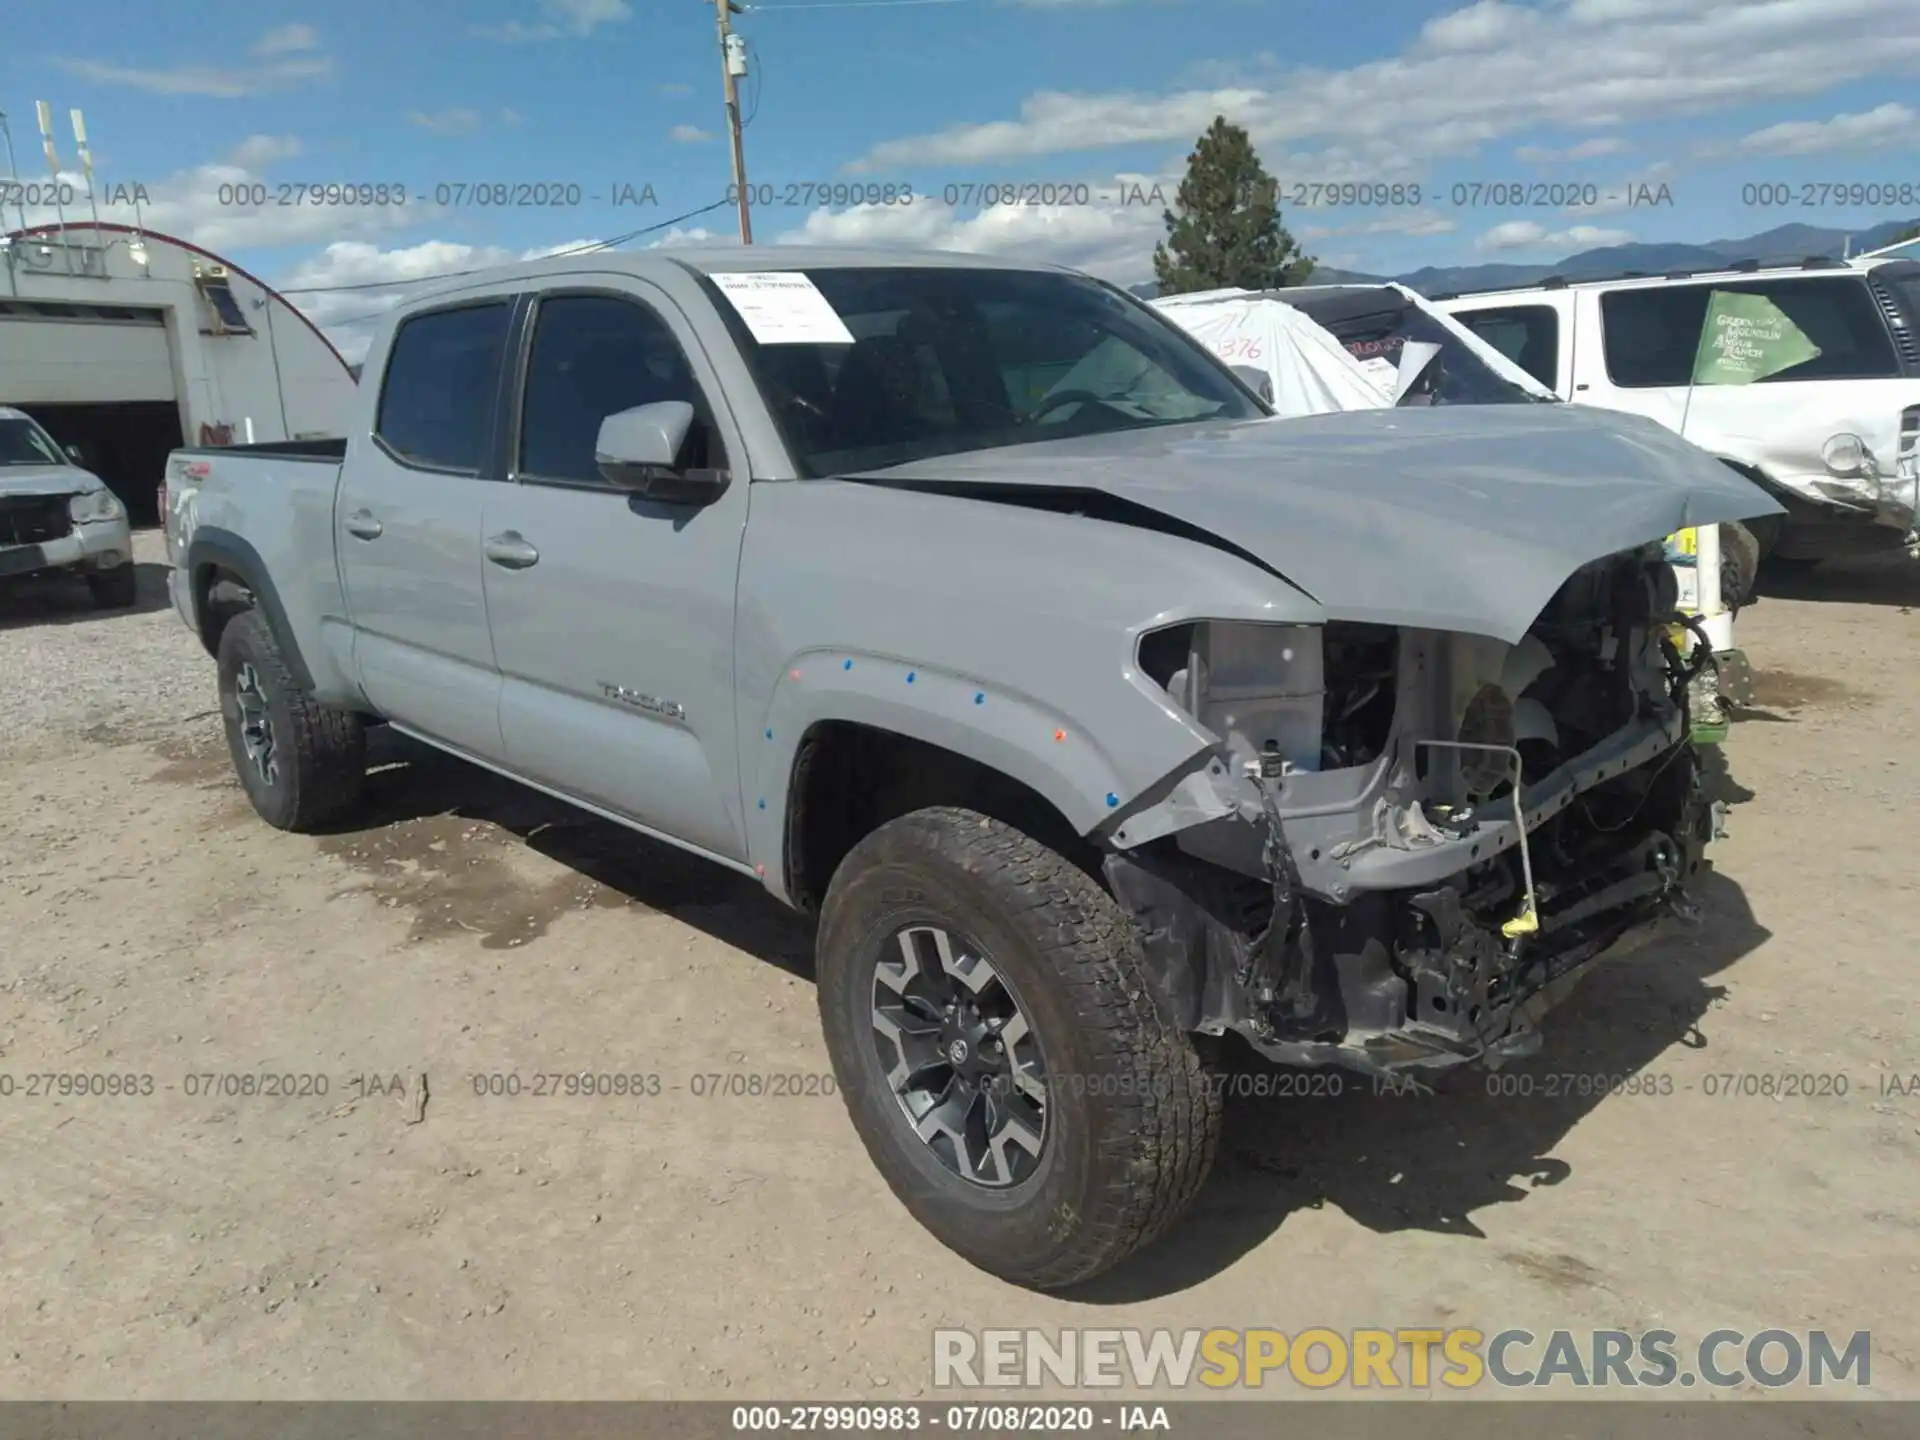
{"label": "white arched-roof metal building behind the pickup's bed", "polygon": [[271,286],[125,225],[0,236],[0,405],[152,522],[167,451],[346,434],[353,372]]}

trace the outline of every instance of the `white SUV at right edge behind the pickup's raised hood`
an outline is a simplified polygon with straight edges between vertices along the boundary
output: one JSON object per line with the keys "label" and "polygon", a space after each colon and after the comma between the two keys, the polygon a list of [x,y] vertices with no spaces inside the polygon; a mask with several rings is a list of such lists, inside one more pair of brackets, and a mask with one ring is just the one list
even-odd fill
{"label": "white SUV at right edge behind the pickup's raised hood", "polygon": [[[1753,384],[1690,384],[1709,296],[1770,301],[1814,353]],[[1436,296],[1578,405],[1645,415],[1766,490],[1763,557],[1809,564],[1914,543],[1920,505],[1920,261],[1747,263]]]}

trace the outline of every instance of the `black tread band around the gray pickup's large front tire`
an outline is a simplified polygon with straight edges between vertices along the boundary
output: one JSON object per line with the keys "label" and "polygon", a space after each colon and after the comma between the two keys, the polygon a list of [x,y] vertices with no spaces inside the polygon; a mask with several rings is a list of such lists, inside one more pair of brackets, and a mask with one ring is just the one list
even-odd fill
{"label": "black tread band around the gray pickup's large front tire", "polygon": [[841,874],[916,851],[958,864],[1000,897],[1066,989],[1094,1064],[1133,1079],[1131,1092],[1114,1096],[1135,1114],[1104,1139],[1094,1213],[1044,1271],[1018,1277],[1043,1290],[1075,1284],[1164,1235],[1192,1204],[1219,1148],[1219,1087],[1154,1000],[1133,920],[1085,870],[1000,820],[935,806],[876,829]]}

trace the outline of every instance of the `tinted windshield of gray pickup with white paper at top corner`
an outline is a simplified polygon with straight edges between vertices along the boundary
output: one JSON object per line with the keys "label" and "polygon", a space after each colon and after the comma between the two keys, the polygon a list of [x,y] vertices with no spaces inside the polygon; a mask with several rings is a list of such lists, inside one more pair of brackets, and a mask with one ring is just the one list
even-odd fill
{"label": "tinted windshield of gray pickup with white paper at top corner", "polygon": [[755,340],[716,294],[804,476],[1267,413],[1183,330],[1085,276],[958,267],[808,275],[849,342]]}

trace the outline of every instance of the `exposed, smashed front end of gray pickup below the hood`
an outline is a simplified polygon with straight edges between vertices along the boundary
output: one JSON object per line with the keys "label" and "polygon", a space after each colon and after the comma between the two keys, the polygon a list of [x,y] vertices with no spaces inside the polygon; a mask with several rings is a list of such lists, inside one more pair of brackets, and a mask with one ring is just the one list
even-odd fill
{"label": "exposed, smashed front end of gray pickup below the hood", "polygon": [[[1644,545],[1576,570],[1517,645],[1342,622],[1142,637],[1142,674],[1219,737],[1104,862],[1175,1018],[1377,1073],[1534,1048],[1588,962],[1692,910],[1715,814],[1682,624]],[[1185,824],[1196,787],[1231,812]]]}

